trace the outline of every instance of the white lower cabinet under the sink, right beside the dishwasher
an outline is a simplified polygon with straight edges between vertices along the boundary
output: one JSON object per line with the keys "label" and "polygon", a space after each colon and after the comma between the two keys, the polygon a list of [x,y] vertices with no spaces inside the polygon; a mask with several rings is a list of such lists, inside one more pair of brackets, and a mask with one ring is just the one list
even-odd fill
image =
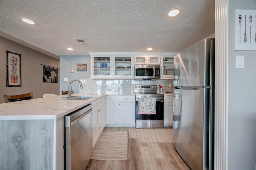
{"label": "white lower cabinet under the sink, right beside the dishwasher", "polygon": [[92,144],[95,146],[106,125],[105,97],[92,103]]}

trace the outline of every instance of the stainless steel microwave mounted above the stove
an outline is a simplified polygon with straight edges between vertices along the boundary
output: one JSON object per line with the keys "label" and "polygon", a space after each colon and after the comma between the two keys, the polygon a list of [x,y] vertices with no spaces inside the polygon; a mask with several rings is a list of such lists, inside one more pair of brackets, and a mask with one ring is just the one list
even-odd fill
{"label": "stainless steel microwave mounted above the stove", "polygon": [[135,65],[135,79],[160,79],[160,66]]}

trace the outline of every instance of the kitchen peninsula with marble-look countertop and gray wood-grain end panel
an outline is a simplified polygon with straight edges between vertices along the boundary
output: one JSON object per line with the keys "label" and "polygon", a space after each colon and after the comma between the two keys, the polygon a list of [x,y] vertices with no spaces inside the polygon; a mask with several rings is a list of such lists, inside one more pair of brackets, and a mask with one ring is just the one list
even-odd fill
{"label": "kitchen peninsula with marble-look countertop and gray wood-grain end panel", "polygon": [[0,104],[0,169],[63,170],[64,116],[106,94],[88,100],[53,96]]}

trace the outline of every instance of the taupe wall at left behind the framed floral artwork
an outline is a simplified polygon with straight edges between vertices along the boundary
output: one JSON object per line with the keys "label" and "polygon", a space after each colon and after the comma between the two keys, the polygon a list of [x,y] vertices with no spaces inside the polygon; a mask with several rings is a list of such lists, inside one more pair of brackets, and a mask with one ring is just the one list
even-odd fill
{"label": "taupe wall at left behind the framed floral artwork", "polygon": [[[21,87],[6,87],[6,50],[21,54]],[[41,98],[45,93],[59,94],[59,83],[43,82],[43,66],[40,64],[60,67],[56,58],[0,37],[0,103],[5,102],[2,94],[34,92],[34,98]]]}

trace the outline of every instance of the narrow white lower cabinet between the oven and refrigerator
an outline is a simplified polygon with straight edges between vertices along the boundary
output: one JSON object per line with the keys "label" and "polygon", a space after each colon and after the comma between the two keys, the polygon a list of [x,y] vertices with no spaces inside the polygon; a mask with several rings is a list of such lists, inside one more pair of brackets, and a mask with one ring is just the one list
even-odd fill
{"label": "narrow white lower cabinet between the oven and refrigerator", "polygon": [[164,96],[164,126],[172,126],[173,96]]}

